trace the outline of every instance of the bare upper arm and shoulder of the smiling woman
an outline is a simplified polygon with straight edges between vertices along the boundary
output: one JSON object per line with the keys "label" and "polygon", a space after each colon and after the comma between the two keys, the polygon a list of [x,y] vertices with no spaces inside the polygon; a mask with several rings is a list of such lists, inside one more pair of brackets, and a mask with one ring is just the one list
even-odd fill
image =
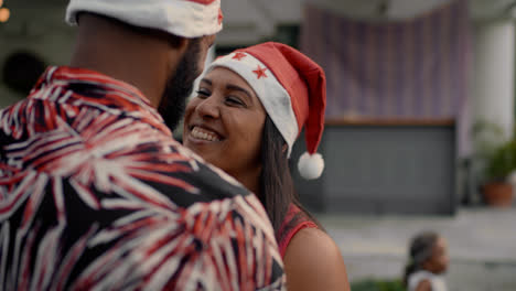
{"label": "bare upper arm and shoulder of the smiling woman", "polygon": [[350,290],[341,251],[320,229],[299,230],[287,247],[283,262],[289,291]]}

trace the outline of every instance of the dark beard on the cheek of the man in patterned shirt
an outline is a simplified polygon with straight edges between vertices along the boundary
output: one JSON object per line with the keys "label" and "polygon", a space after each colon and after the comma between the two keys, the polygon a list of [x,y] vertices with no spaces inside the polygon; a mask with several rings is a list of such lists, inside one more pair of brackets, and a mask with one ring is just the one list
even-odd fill
{"label": "dark beard on the cheek of the man in patterned shirt", "polygon": [[183,118],[186,99],[192,94],[194,82],[200,73],[200,39],[191,40],[175,74],[166,82],[158,112],[171,131],[174,131]]}

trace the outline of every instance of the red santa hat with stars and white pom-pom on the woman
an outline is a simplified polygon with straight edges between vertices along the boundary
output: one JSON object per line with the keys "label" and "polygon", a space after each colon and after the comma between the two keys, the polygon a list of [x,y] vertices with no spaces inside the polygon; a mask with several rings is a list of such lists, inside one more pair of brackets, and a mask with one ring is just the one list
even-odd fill
{"label": "red santa hat with stars and white pom-pom on the woman", "polygon": [[267,114],[289,146],[304,126],[307,151],[298,169],[304,179],[318,179],[324,160],[316,153],[324,129],[326,78],[308,56],[281,43],[268,42],[217,58],[207,72],[222,66],[240,75],[260,98]]}

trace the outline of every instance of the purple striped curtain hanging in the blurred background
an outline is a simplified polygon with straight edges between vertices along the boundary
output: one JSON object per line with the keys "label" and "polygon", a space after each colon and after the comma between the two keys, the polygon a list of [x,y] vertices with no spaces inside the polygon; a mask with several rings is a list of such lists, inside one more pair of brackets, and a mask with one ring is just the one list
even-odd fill
{"label": "purple striped curtain hanging in the blurred background", "polygon": [[471,69],[466,1],[387,22],[304,12],[301,51],[326,72],[326,118],[459,119]]}

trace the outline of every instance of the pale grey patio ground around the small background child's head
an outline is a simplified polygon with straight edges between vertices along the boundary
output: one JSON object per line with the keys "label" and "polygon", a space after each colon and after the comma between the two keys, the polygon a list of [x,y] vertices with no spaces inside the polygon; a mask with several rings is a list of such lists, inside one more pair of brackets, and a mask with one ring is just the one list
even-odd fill
{"label": "pale grey patio ground around the small background child's head", "polygon": [[408,241],[432,229],[448,239],[450,291],[516,290],[516,208],[461,208],[455,216],[318,215],[336,240],[351,282],[400,278]]}

